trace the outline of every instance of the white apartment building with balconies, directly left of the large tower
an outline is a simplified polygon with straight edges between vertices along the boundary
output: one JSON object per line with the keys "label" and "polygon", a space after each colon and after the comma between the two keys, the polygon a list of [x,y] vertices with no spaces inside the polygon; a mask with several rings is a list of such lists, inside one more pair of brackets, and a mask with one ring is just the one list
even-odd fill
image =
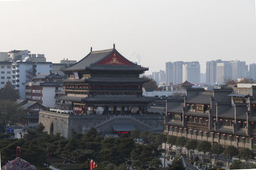
{"label": "white apartment building with balconies, directly left of the large tower", "polygon": [[20,99],[26,99],[25,83],[32,81],[38,73],[50,73],[52,62],[17,62],[12,63],[12,84],[20,92]]}

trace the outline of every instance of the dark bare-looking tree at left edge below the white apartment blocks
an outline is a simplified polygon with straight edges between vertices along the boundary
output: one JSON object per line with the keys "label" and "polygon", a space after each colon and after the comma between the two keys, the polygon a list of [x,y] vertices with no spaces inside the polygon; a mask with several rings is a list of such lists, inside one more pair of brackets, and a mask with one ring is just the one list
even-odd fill
{"label": "dark bare-looking tree at left edge below the white apartment blocks", "polygon": [[13,89],[10,81],[7,81],[4,88],[0,90],[0,99],[14,102],[19,99],[19,97],[19,90]]}

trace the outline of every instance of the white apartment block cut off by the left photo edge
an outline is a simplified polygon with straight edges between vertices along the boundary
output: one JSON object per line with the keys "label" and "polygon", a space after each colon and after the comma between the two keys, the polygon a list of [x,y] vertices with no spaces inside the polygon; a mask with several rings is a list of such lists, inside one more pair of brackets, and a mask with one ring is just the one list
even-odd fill
{"label": "white apartment block cut off by the left photo edge", "polygon": [[12,62],[0,62],[0,89],[2,89],[7,81],[12,82]]}

